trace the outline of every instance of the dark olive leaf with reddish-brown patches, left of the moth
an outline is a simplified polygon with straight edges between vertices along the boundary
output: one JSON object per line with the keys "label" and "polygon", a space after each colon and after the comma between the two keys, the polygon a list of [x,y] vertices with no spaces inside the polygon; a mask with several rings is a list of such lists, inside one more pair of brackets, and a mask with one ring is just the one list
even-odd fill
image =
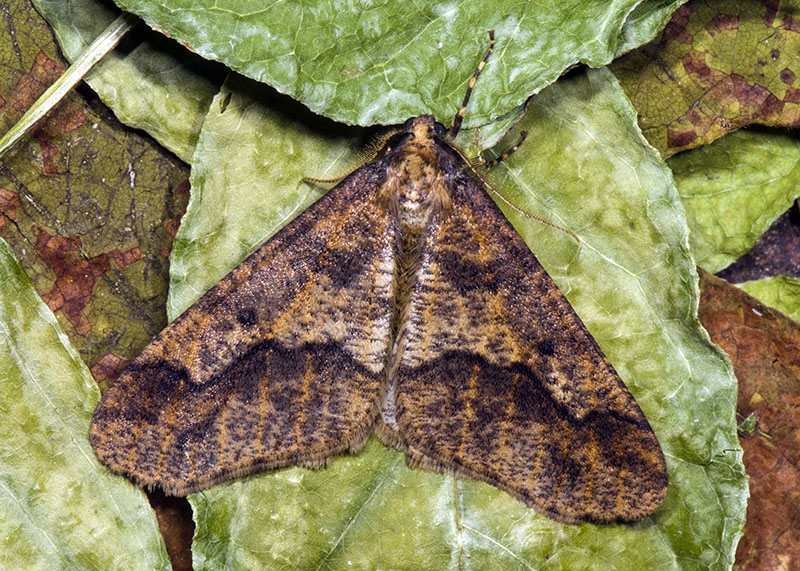
{"label": "dark olive leaf with reddish-brown patches, left of the moth", "polygon": [[[31,5],[6,9],[4,129],[66,69]],[[0,162],[0,236],[103,381],[166,323],[167,256],[188,168],[87,97],[69,95]]]}

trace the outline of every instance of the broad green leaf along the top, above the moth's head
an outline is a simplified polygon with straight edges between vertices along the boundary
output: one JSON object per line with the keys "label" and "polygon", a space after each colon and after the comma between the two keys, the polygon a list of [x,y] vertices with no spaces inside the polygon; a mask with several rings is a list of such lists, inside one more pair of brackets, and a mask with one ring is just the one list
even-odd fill
{"label": "broad green leaf along the top, above the moth's head", "polygon": [[[577,62],[608,63],[626,18],[640,4],[273,1],[253,10],[234,0],[116,1],[202,56],[316,113],[360,125],[401,123],[423,113],[449,121],[494,29],[495,56],[468,117],[473,126],[510,112]],[[660,4],[647,3],[631,26],[654,31],[645,16],[663,14]],[[626,30],[626,38],[635,35]]]}

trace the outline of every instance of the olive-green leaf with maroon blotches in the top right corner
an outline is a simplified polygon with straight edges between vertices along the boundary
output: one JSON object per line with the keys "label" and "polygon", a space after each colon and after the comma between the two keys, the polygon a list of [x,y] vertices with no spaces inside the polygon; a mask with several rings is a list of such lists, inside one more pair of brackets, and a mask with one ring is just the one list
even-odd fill
{"label": "olive-green leaf with maroon blotches in the top right corner", "polygon": [[611,65],[664,157],[750,123],[800,126],[796,2],[695,0]]}

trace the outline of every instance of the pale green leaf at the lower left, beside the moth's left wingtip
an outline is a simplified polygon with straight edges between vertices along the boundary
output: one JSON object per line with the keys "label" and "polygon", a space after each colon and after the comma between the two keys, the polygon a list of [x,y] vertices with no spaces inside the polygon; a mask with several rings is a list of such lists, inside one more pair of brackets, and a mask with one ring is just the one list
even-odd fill
{"label": "pale green leaf at the lower left, beside the moth's left wingtip", "polygon": [[168,569],[144,494],[89,446],[100,391],[0,240],[0,565]]}

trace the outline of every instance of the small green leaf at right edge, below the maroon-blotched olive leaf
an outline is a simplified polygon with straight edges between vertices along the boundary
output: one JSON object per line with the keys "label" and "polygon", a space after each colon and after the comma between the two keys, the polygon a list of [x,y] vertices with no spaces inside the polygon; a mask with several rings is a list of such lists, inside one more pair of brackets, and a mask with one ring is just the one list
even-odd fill
{"label": "small green leaf at right edge, below the maroon-blotched olive leaf", "polygon": [[669,159],[697,264],[716,273],[750,250],[800,195],[800,138],[736,131]]}

